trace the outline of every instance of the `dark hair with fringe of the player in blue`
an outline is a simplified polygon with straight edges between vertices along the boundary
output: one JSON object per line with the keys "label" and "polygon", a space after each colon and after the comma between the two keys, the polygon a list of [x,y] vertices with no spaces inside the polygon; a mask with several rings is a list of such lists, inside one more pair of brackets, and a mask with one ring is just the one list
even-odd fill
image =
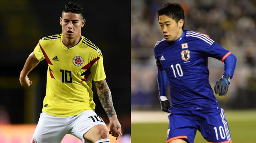
{"label": "dark hair with fringe of the player in blue", "polygon": [[182,29],[184,29],[185,15],[184,15],[184,10],[180,4],[169,2],[163,5],[157,10],[157,18],[159,18],[160,15],[167,15],[170,18],[174,19],[176,23],[178,23],[179,20],[183,19],[184,24],[182,26]]}

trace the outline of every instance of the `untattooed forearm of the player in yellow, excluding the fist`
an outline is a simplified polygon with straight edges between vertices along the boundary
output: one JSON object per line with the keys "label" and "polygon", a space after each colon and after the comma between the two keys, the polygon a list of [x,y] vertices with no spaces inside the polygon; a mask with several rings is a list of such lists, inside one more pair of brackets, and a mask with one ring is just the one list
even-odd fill
{"label": "untattooed forearm of the player in yellow, excluding the fist", "polygon": [[32,69],[34,69],[35,66],[37,66],[37,64],[38,64],[39,62],[40,62],[40,61],[37,60],[37,58],[35,57],[34,52],[32,52],[32,53],[28,56],[28,58],[27,58],[27,60],[26,60],[26,62],[25,62],[25,64],[24,64],[24,67],[23,67],[22,71],[20,72],[20,77],[26,77],[26,76],[29,74],[29,72],[30,72]]}

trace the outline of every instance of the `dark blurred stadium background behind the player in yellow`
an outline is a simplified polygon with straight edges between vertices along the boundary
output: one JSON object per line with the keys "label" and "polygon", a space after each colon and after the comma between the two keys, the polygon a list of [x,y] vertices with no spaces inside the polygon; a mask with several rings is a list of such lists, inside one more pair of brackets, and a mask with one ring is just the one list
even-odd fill
{"label": "dark blurred stadium background behind the player in yellow", "polygon": [[[130,1],[72,1],[85,9],[82,35],[104,55],[106,80],[124,135],[115,143],[130,143]],[[29,74],[33,81],[29,88],[20,86],[20,71],[40,38],[62,32],[59,17],[66,2],[69,0],[0,0],[0,143],[31,140],[42,112],[47,63],[40,62]],[[95,112],[108,124],[94,93]],[[62,140],[72,142],[81,143],[73,136]]]}

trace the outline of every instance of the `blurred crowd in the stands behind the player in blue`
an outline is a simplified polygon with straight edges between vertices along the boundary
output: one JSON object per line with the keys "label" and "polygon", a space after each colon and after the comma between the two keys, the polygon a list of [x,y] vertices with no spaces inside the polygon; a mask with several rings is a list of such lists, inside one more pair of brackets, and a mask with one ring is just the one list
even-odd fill
{"label": "blurred crowd in the stands behind the player in blue", "polygon": [[[132,0],[131,2],[131,103],[132,109],[160,109],[155,42],[163,35],[156,11],[177,2],[185,11],[185,29],[208,34],[236,58],[229,92],[218,97],[229,108],[256,108],[256,1],[254,0]],[[223,74],[223,63],[209,58],[210,84]]]}

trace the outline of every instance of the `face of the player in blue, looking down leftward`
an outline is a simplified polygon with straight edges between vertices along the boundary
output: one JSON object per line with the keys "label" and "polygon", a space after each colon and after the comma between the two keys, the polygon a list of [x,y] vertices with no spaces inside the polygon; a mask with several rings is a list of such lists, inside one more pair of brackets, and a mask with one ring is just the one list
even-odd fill
{"label": "face of the player in blue, looking down leftward", "polygon": [[159,18],[160,29],[166,39],[166,41],[171,42],[179,38],[183,32],[182,26],[184,24],[183,19],[176,22],[174,19],[167,15],[160,15]]}

